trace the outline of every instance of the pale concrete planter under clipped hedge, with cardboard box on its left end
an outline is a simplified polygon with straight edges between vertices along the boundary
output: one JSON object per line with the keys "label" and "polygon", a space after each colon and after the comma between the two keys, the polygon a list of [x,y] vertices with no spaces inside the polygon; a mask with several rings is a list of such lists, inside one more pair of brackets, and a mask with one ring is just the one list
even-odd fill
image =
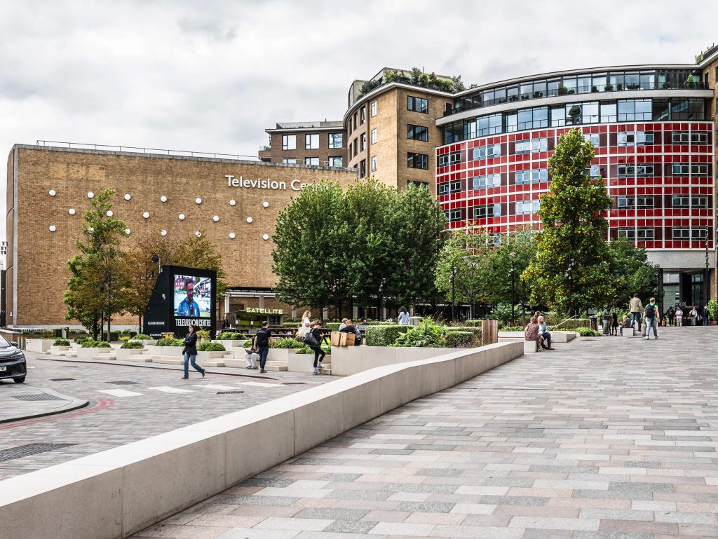
{"label": "pale concrete planter under clipped hedge, with cardboard box on its left end", "polygon": [[455,352],[453,348],[332,346],[332,375],[349,376],[386,365],[427,360]]}

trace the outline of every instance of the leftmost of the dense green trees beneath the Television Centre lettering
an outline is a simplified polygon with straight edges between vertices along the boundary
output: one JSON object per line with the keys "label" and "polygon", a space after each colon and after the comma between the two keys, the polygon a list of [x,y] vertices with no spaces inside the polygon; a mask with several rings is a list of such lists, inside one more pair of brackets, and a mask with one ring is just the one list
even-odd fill
{"label": "leftmost of the dense green trees beneath the Television Centre lettering", "polygon": [[274,231],[274,291],[281,301],[323,309],[336,301],[335,279],[345,271],[348,228],[342,223],[344,195],[337,183],[302,189],[279,212]]}

